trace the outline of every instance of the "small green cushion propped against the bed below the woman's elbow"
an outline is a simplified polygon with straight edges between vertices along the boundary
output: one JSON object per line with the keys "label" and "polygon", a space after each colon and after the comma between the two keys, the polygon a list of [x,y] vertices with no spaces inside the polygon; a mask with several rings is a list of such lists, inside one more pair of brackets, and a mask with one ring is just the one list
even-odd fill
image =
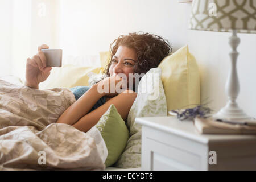
{"label": "small green cushion propped against the bed below the woman's elbow", "polygon": [[111,166],[117,162],[117,159],[125,149],[129,139],[129,130],[114,104],[109,106],[109,109],[102,115],[95,126],[101,132],[108,148],[108,157],[105,165],[106,167]]}

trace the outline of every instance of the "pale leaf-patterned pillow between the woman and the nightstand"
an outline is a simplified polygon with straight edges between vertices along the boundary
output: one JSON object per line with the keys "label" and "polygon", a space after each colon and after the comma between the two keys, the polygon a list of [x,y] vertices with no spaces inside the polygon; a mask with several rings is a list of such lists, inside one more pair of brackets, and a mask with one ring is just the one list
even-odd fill
{"label": "pale leaf-patterned pillow between the woman and the nightstand", "polygon": [[[144,89],[147,92],[144,92]],[[135,118],[166,115],[167,105],[161,81],[161,69],[151,68],[139,82],[137,97],[127,117],[130,138],[125,151],[114,166],[121,168],[141,167],[141,125],[134,123]]]}

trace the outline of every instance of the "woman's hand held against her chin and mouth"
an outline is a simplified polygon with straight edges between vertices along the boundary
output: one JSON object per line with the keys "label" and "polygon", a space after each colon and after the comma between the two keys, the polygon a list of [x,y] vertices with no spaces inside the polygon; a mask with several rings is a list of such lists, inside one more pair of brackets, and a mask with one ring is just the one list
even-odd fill
{"label": "woman's hand held against her chin and mouth", "polygon": [[106,77],[96,84],[97,91],[109,97],[117,96],[126,89],[123,88],[123,85],[127,85],[126,80],[117,75]]}

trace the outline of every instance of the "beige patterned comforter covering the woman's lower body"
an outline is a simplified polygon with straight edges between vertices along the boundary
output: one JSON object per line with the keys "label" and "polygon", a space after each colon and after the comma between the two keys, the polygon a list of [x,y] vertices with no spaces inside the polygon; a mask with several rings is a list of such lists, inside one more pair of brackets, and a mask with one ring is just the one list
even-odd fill
{"label": "beige patterned comforter covering the woman's lower body", "polygon": [[105,168],[98,130],[56,123],[75,102],[67,88],[38,90],[0,80],[0,170]]}

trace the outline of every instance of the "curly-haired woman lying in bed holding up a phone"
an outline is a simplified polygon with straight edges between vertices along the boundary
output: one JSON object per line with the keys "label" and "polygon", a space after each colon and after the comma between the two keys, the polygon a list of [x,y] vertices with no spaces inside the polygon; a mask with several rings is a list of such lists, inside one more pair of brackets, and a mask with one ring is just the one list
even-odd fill
{"label": "curly-haired woman lying in bed holding up a phone", "polygon": [[[115,105],[126,121],[137,96],[134,89],[129,88],[129,74],[146,73],[151,68],[158,67],[160,61],[171,52],[167,42],[160,36],[148,33],[119,36],[110,44],[110,60],[104,71],[108,77],[102,78],[92,87],[71,88],[76,102],[60,115],[57,123],[66,123],[86,132],[99,121],[111,104]],[[46,57],[40,51],[43,48],[49,47],[45,44],[39,46],[37,55],[27,59],[25,85],[31,88],[38,89],[39,83],[47,79],[52,69],[46,67]],[[126,80],[118,76],[121,73],[126,76]],[[121,93],[117,90],[111,93],[113,90],[110,90],[110,84],[117,85],[119,82],[125,82],[127,89]],[[105,86],[107,92],[99,92]]]}

